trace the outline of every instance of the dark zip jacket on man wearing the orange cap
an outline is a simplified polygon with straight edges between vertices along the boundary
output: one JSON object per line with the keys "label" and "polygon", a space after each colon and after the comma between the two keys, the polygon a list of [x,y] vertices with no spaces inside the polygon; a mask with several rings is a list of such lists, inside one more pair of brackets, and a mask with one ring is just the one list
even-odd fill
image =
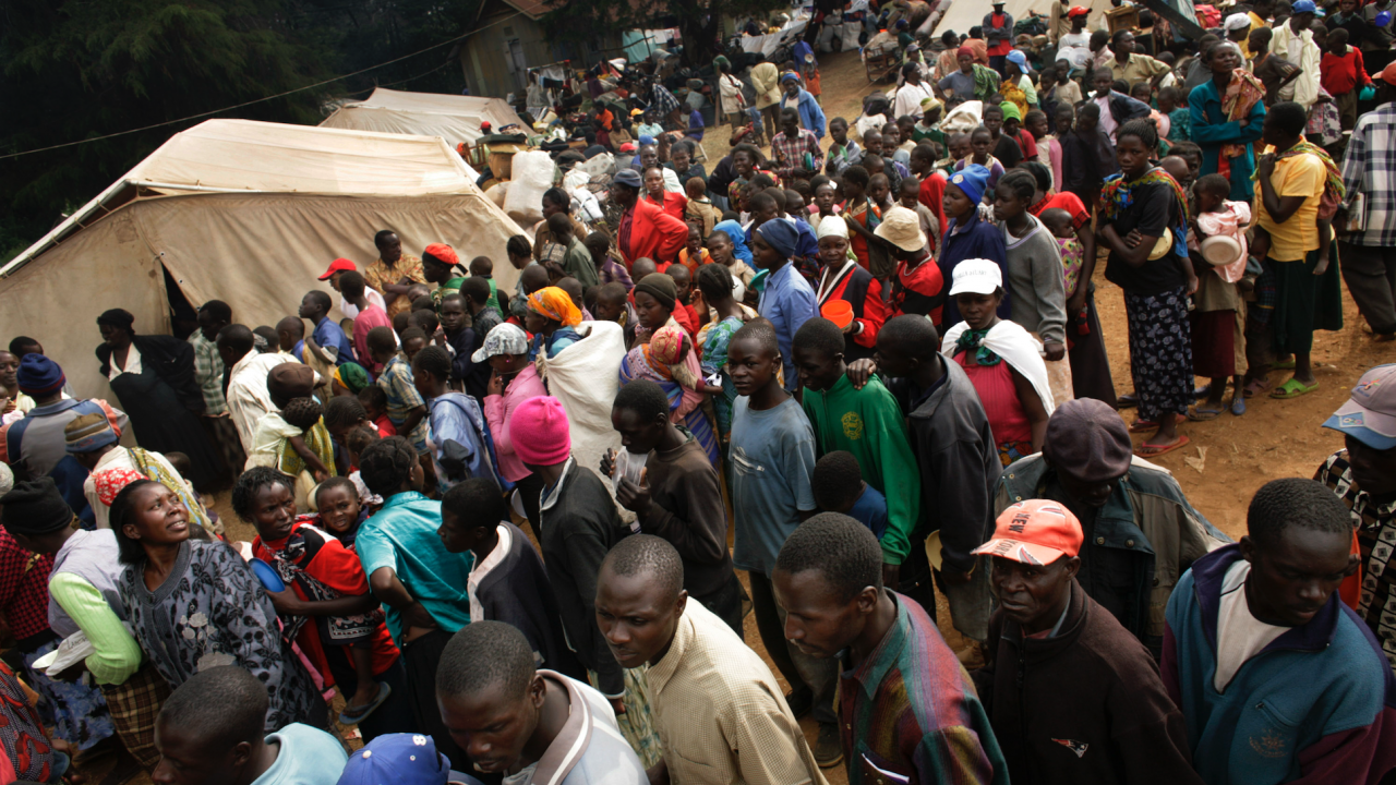
{"label": "dark zip jacket on man wearing the orange cap", "polygon": [[986,654],[974,686],[1013,785],[1202,785],[1149,650],[1081,584],[1053,638],[995,610]]}

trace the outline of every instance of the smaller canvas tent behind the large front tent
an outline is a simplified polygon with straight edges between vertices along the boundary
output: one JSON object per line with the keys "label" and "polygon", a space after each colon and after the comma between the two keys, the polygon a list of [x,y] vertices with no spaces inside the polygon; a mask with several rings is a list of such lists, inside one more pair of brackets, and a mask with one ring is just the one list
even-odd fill
{"label": "smaller canvas tent behind the large front tent", "polygon": [[341,106],[320,126],[441,137],[455,147],[480,138],[480,123],[484,122],[496,131],[510,124],[528,127],[503,98],[403,92],[381,87],[367,101]]}

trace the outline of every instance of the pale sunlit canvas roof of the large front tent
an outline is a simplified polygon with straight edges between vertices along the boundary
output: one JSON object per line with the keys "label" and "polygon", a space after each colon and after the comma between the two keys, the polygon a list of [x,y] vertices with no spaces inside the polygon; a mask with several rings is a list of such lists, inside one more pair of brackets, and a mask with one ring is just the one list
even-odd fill
{"label": "pale sunlit canvas roof of the large front tent", "polygon": [[145,161],[0,268],[8,275],[130,198],[197,191],[426,196],[480,193],[476,173],[436,137],[255,120],[205,120]]}

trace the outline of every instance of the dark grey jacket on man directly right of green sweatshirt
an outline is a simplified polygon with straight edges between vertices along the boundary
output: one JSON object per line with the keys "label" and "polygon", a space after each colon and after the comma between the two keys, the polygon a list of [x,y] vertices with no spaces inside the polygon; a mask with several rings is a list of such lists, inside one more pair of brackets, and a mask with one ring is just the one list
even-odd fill
{"label": "dark grey jacket on man directly right of green sweatshirt", "polygon": [[882,381],[907,418],[912,451],[921,469],[924,522],[917,534],[940,531],[944,563],[967,573],[977,560],[970,552],[994,531],[990,503],[1002,464],[974,384],[959,363],[942,363],[945,380],[920,402],[912,398],[916,391],[909,379]]}

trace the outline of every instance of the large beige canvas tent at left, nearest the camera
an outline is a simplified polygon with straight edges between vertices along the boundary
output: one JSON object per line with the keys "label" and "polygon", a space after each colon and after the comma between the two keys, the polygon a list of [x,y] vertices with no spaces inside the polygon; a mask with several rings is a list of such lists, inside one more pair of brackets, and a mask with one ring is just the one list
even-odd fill
{"label": "large beige canvas tent at left, nearest the camera", "polygon": [[110,398],[96,314],[121,307],[137,332],[169,332],[168,272],[190,303],[275,325],[306,292],[329,291],[315,278],[331,260],[377,260],[380,229],[415,256],[434,242],[466,264],[489,256],[500,288],[517,281],[504,244],[518,225],[440,138],[208,120],[0,268],[0,338],[38,338],[78,395]]}

